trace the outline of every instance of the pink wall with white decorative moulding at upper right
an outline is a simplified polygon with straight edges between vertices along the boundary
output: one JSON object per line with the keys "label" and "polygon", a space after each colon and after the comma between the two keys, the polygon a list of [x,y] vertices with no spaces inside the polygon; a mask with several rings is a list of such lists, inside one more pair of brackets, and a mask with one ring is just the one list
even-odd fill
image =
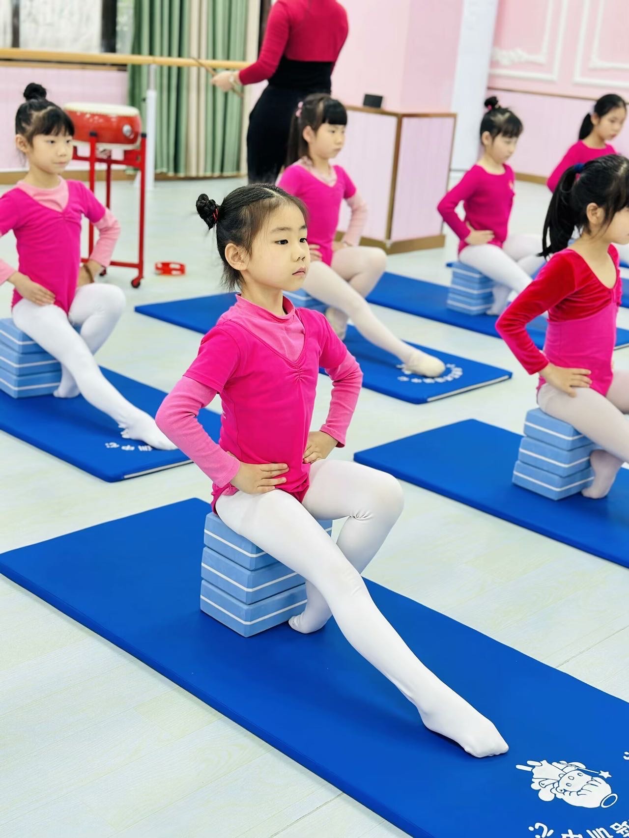
{"label": "pink wall with white decorative moulding at upper right", "polygon": [[500,0],[489,86],[524,122],[518,172],[548,176],[599,96],[629,98],[628,31],[626,0]]}

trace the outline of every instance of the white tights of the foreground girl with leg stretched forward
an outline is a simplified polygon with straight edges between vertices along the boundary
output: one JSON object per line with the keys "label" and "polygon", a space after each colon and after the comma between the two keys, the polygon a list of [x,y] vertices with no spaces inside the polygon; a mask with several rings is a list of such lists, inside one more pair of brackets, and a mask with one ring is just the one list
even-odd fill
{"label": "white tights of the foreground girl with leg stretched forward", "polygon": [[[496,727],[415,657],[361,577],[402,508],[402,489],[390,474],[340,460],[313,464],[303,504],[281,489],[222,495],[216,504],[227,526],[307,580],[308,603],[291,628],[309,634],[334,616],[354,649],[413,702],[426,727],[476,757],[504,753]],[[314,520],[345,517],[336,543]]]}

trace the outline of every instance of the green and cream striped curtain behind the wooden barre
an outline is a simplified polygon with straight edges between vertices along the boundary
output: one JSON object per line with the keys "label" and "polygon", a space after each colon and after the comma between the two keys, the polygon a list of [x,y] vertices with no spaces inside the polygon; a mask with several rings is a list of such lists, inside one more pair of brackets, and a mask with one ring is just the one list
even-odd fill
{"label": "green and cream striped curtain behind the wooden barre", "polygon": [[[135,54],[243,60],[247,0],[135,0]],[[144,109],[148,67],[129,67],[130,104]],[[194,177],[242,170],[242,99],[207,70],[157,68],[155,171]]]}

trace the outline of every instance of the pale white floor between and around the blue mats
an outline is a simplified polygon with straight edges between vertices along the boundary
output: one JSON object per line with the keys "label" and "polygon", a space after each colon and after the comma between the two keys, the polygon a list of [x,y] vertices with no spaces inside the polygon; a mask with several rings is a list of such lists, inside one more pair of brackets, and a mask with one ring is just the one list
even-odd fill
{"label": "pale white floor between and around the blue mats", "polygon": [[[234,182],[160,183],[148,199],[147,263],[179,260],[184,278],[112,269],[127,312],[99,360],[168,390],[199,335],[133,312],[137,303],[218,290],[213,240],[195,216],[205,190]],[[136,246],[132,184],[114,186],[119,258]],[[545,188],[517,184],[512,231],[541,229]],[[393,256],[389,269],[447,282],[444,250]],[[0,241],[13,259],[13,237]],[[0,312],[8,313],[8,288]],[[378,309],[400,337],[514,371],[509,382],[425,406],[363,391],[336,456],[474,417],[519,431],[534,383],[497,339]],[[6,316],[3,314],[3,316]],[[629,310],[619,323],[629,328]],[[629,368],[629,349],[616,355]],[[320,379],[315,419],[330,385]],[[194,466],[106,484],[0,434],[3,550],[189,497],[207,498]],[[366,576],[582,680],[629,700],[629,572],[404,485],[406,509]],[[418,536],[418,533],[421,535]],[[89,561],[86,556],[86,561]],[[453,582],[455,580],[455,582]],[[5,838],[381,838],[402,835],[265,742],[6,580],[0,582],[0,832]],[[489,676],[495,676],[490,673]]]}

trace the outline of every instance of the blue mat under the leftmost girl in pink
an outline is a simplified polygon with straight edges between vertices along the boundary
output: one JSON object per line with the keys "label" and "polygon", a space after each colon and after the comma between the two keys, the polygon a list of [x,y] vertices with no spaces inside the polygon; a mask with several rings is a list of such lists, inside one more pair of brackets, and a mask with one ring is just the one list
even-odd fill
{"label": "blue mat under the leftmost girl in pink", "polygon": [[[155,416],[166,396],[164,392],[111,370],[102,372],[122,396]],[[218,440],[221,417],[201,411],[199,419],[211,437]],[[16,400],[0,392],[0,431],[109,483],[190,463],[180,451],[158,451],[143,442],[124,439],[116,422],[83,396]]]}

